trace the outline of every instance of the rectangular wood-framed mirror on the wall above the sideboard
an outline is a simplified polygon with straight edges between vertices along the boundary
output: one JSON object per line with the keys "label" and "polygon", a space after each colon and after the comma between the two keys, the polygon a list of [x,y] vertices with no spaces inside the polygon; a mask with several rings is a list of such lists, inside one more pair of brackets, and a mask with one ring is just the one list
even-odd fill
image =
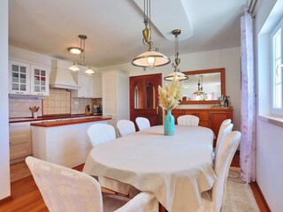
{"label": "rectangular wood-framed mirror on the wall above the sideboard", "polygon": [[225,68],[183,72],[183,97],[180,104],[216,104],[226,95]]}

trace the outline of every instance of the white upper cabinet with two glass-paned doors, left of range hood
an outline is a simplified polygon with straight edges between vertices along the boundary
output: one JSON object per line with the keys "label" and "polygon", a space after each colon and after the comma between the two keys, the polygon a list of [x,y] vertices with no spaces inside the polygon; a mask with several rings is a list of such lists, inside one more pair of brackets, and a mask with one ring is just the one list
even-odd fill
{"label": "white upper cabinet with two glass-paned doors, left of range hood", "polygon": [[9,94],[49,95],[50,69],[14,60],[9,61]]}

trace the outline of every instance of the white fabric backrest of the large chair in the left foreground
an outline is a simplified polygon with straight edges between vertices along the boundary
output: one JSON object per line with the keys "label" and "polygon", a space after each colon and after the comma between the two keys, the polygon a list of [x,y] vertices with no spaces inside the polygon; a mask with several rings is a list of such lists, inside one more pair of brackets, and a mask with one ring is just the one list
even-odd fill
{"label": "white fabric backrest of the large chair in the left foreground", "polygon": [[95,178],[32,156],[26,163],[50,212],[103,211],[101,188]]}

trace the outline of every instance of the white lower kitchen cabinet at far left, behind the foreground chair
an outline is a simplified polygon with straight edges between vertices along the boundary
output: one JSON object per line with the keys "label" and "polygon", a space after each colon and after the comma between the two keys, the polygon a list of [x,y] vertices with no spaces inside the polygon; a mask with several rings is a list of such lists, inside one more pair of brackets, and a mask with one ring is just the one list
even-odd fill
{"label": "white lower kitchen cabinet at far left, behind the foreground chair", "polygon": [[32,154],[30,122],[9,124],[9,134],[11,161]]}

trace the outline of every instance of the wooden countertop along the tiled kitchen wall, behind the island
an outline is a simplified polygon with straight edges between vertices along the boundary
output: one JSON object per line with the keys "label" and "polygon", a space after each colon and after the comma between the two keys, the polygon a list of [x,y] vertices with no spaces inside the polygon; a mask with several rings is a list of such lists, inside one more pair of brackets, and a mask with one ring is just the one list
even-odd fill
{"label": "wooden countertop along the tiled kitchen wall, behind the island", "polygon": [[9,123],[18,122],[38,122],[38,121],[51,121],[52,119],[70,119],[70,118],[83,118],[83,117],[102,117],[102,114],[85,115],[85,114],[66,114],[66,115],[54,115],[54,116],[43,116],[43,117],[11,117]]}

